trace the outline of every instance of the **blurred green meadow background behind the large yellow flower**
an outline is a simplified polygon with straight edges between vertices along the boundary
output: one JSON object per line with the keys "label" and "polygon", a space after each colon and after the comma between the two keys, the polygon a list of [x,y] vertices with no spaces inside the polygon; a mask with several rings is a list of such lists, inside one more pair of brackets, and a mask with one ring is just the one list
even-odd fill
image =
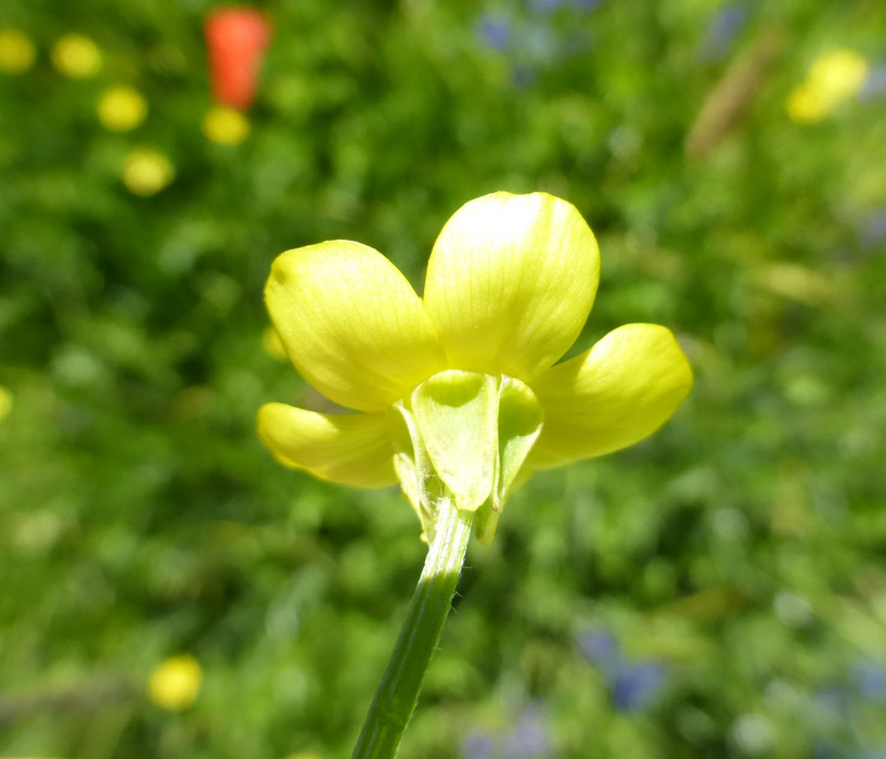
{"label": "blurred green meadow background behind the large yellow flower", "polygon": [[236,144],[210,3],[0,8],[0,754],[349,756],[424,546],[257,441],[322,403],[264,280],[344,237],[420,286],[459,206],[544,190],[601,245],[577,348],[662,323],[696,387],[472,545],[400,757],[886,756],[886,4],[262,8]]}

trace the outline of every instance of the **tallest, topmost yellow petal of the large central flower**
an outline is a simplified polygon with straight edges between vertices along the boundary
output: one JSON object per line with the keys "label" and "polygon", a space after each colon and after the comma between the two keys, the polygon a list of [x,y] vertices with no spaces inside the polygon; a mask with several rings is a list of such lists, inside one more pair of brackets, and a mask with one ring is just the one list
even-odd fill
{"label": "tallest, topmost yellow petal of the large central flower", "polygon": [[497,192],[446,223],[424,300],[451,366],[526,382],[575,342],[599,275],[596,241],[572,204]]}

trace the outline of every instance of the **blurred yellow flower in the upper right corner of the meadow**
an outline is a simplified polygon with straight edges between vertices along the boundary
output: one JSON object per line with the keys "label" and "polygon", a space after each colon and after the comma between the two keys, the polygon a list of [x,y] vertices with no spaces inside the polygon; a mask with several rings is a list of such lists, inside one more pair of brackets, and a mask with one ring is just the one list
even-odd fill
{"label": "blurred yellow flower in the upper right corner of the meadow", "polygon": [[852,50],[835,50],[819,57],[806,80],[787,97],[787,115],[798,124],[816,124],[842,102],[858,94],[870,67]]}

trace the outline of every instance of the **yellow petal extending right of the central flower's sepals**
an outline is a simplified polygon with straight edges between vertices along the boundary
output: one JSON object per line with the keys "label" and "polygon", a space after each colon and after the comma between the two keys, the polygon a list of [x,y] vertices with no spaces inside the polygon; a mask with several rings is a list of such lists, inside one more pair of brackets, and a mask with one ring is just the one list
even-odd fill
{"label": "yellow petal extending right of the central flower's sepals", "polygon": [[632,446],[660,427],[691,388],[692,369],[670,330],[613,330],[532,383],[544,425],[529,464],[560,466]]}

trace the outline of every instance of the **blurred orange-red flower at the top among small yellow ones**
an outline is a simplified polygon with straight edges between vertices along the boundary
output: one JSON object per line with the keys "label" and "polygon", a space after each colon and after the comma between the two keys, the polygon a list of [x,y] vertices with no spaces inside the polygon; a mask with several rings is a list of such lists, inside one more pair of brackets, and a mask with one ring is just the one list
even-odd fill
{"label": "blurred orange-red flower at the top among small yellow ones", "polygon": [[271,25],[255,8],[219,8],[206,17],[213,97],[245,110],[255,100],[258,72],[271,41]]}

